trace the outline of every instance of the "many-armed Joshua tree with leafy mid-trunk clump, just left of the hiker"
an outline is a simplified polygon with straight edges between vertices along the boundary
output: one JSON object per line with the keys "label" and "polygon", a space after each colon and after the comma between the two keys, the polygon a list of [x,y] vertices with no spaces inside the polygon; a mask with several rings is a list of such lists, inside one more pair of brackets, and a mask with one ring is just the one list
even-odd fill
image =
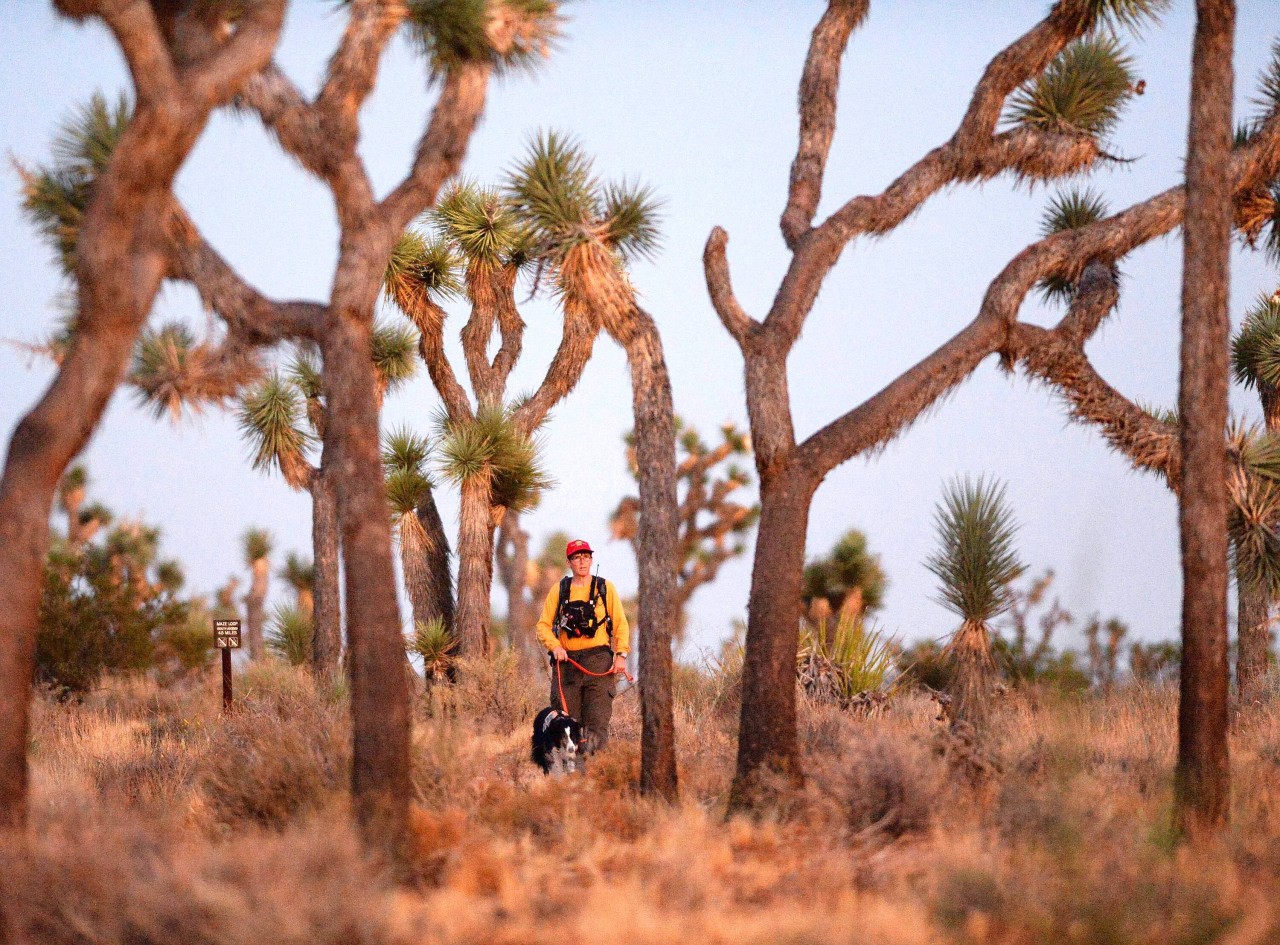
{"label": "many-armed Joshua tree with leafy mid-trunk clump, just left of the hiker", "polygon": [[[517,172],[521,173],[521,172]],[[508,510],[526,511],[549,480],[538,469],[532,435],[577,384],[598,330],[591,312],[563,306],[561,344],[538,391],[506,402],[507,379],[524,346],[516,280],[535,261],[534,233],[495,190],[457,184],[430,215],[433,234],[406,232],[387,266],[385,295],[420,333],[419,350],[444,403],[439,420],[443,471],[461,489],[458,652],[489,652],[494,530]],[[444,352],[442,302],[465,296],[462,348],[475,402]],[[489,357],[498,333],[500,344]]]}

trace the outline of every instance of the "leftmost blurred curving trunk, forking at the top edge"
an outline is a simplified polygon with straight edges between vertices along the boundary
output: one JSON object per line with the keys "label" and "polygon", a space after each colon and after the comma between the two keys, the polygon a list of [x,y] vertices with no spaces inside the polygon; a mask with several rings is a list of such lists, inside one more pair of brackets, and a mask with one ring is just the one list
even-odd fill
{"label": "leftmost blurred curving trunk, forking at the top edge", "polygon": [[100,15],[136,88],[129,128],[97,177],[77,245],[76,338],[58,376],[14,430],[0,476],[0,830],[27,818],[27,736],[36,620],[58,481],[124,376],[168,268],[163,222],[173,179],[214,108],[270,59],[283,0],[257,4],[234,38],[179,79],[150,15],[131,5],[78,4]]}

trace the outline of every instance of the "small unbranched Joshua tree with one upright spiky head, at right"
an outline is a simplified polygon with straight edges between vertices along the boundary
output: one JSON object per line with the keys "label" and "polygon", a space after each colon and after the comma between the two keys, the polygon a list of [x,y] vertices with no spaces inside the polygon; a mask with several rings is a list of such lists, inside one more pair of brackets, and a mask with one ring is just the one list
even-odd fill
{"label": "small unbranched Joshua tree with one upright spiky head, at right", "polygon": [[1025,570],[1014,551],[1018,526],[1004,485],[968,478],[946,487],[934,521],[940,548],[925,566],[941,584],[940,602],[961,620],[945,650],[951,712],[980,731],[996,677],[991,621],[1012,604],[1010,585]]}

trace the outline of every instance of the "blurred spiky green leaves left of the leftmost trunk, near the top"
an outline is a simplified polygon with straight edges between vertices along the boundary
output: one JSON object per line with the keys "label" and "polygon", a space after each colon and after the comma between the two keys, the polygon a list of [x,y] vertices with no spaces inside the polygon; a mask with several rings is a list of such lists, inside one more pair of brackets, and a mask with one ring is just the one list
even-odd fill
{"label": "blurred spiky green leaves left of the leftmost trunk, near the top", "polygon": [[63,122],[54,138],[54,163],[35,170],[18,168],[23,210],[58,254],[63,271],[76,271],[76,243],[93,192],[111,152],[129,125],[132,106],[123,95],[110,104],[95,92]]}

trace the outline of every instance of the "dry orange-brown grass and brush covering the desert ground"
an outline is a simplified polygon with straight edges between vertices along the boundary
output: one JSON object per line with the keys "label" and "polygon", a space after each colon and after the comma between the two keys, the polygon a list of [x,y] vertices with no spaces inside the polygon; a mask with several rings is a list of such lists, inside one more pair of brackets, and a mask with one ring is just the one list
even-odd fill
{"label": "dry orange-brown grass and brush covering the desert ground", "polygon": [[[255,668],[41,699],[26,849],[0,850],[14,942],[1268,942],[1280,940],[1280,711],[1242,717],[1233,827],[1170,834],[1175,700],[1005,697],[978,748],[922,697],[878,718],[801,703],[808,781],[724,821],[723,680],[677,680],[684,800],[636,794],[635,693],[585,777],[543,777],[545,698],[471,667],[415,726],[416,885],[361,854],[340,691]],[[4,937],[0,935],[0,937]]]}

